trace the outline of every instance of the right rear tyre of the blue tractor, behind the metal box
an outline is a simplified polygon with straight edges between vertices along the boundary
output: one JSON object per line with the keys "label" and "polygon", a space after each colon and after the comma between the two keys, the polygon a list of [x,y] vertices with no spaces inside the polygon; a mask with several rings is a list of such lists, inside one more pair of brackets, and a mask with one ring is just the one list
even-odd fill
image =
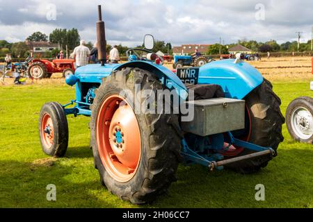
{"label": "right rear tyre of the blue tractor, behind the metal box", "polygon": [[[250,117],[250,123],[246,123],[248,132],[241,135],[239,139],[246,138],[252,144],[271,147],[275,150],[275,155],[277,155],[278,145],[284,140],[282,136],[284,117],[280,111],[281,101],[272,88],[271,83],[264,79],[262,85],[246,96],[246,112],[248,112],[246,116]],[[236,133],[234,135],[238,138]],[[239,155],[247,155],[249,153],[254,152],[245,149]],[[269,160],[271,160],[271,156],[266,155],[236,162],[230,165],[230,168],[241,173],[254,173],[262,167],[266,167]]]}

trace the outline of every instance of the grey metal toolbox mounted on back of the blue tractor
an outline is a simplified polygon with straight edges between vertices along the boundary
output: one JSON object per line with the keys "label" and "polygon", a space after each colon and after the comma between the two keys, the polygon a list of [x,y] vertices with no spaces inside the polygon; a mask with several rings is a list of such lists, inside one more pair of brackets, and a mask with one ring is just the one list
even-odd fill
{"label": "grey metal toolbox mounted on back of the blue tractor", "polygon": [[[182,121],[182,130],[207,136],[245,128],[245,101],[238,99],[202,99],[186,101],[194,106],[193,121]],[[191,106],[190,106],[191,105]]]}

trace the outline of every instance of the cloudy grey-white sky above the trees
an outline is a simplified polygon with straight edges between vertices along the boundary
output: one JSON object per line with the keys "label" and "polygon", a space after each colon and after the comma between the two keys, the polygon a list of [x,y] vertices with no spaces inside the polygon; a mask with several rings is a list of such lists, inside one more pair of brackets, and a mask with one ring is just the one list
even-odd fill
{"label": "cloudy grey-white sky above the trees", "polygon": [[0,0],[0,40],[24,41],[36,31],[78,28],[95,42],[97,5],[102,5],[109,44],[137,46],[147,33],[179,44],[238,40],[279,43],[311,38],[313,1],[283,0]]}

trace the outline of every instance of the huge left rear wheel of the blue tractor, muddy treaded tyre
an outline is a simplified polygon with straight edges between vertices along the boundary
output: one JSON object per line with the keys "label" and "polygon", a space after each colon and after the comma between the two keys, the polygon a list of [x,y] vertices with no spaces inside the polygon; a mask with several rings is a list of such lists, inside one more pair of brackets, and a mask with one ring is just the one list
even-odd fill
{"label": "huge left rear wheel of the blue tractor, muddy treaded tyre", "polygon": [[[140,97],[143,90],[145,92],[148,90],[148,95],[151,96],[151,94],[157,93],[157,89],[164,89],[159,79],[149,71],[127,67],[119,71],[113,71],[111,76],[102,81],[102,85],[95,92],[96,96],[93,105],[90,106],[92,110],[90,146],[93,149],[95,168],[99,171],[102,185],[122,200],[129,200],[133,204],[151,203],[157,196],[167,191],[171,182],[176,181],[175,173],[181,159],[182,139],[182,133],[179,129],[179,117],[177,114],[164,113],[150,114],[140,112],[135,114],[134,106],[129,105],[132,104],[129,99],[132,98],[131,96],[134,96],[133,100],[137,101],[139,105],[147,99]],[[137,87],[137,90],[140,90],[140,92],[135,93],[135,85],[138,86],[138,84],[140,87],[139,89]],[[118,97],[120,92],[125,92],[125,96]],[[115,97],[122,98],[122,101],[110,101],[110,99]],[[122,103],[126,103],[127,109],[131,110],[130,116],[133,116],[131,119],[136,119],[132,124],[126,124],[125,128],[122,126],[122,120],[118,119],[117,123],[114,119],[115,114],[120,110],[119,105],[115,104]],[[165,104],[166,101],[163,100],[163,105]],[[119,129],[115,128],[116,124],[120,127]],[[113,130],[113,135],[110,135],[112,128],[115,128],[116,132],[119,131],[120,133],[114,135],[115,131]],[[104,132],[102,134],[102,131],[105,130],[108,130],[109,133]],[[127,132],[130,132],[129,137],[127,137]],[[118,134],[119,137],[117,137]],[[120,139],[120,135],[122,135],[123,140]],[[128,145],[127,147],[127,142],[133,144],[136,142],[137,145],[138,141],[140,142],[136,151],[138,150],[141,154],[138,155],[136,164],[134,164],[137,167],[132,171],[128,170],[128,174],[126,173],[125,175],[120,169],[126,167],[125,165],[127,164],[121,160],[123,157],[116,153],[116,146],[119,146],[116,143],[120,143],[118,138],[120,142],[122,141],[120,147],[124,149],[122,151],[124,152],[123,155],[129,149],[134,149],[134,145]],[[112,145],[112,142],[115,144]],[[103,153],[106,155],[103,155]],[[134,155],[126,156],[134,158]],[[115,166],[114,164],[118,164],[117,167],[112,167]],[[125,176],[125,180],[120,178],[120,176]]]}

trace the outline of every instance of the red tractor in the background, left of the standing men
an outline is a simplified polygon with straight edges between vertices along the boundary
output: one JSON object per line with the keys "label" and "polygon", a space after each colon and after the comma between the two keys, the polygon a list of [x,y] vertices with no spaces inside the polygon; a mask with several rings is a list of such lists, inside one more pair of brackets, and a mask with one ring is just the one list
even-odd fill
{"label": "red tractor in the background, left of the standing men", "polygon": [[54,73],[63,73],[63,77],[74,74],[74,60],[40,60],[33,59],[27,69],[27,74],[34,79],[50,78]]}

